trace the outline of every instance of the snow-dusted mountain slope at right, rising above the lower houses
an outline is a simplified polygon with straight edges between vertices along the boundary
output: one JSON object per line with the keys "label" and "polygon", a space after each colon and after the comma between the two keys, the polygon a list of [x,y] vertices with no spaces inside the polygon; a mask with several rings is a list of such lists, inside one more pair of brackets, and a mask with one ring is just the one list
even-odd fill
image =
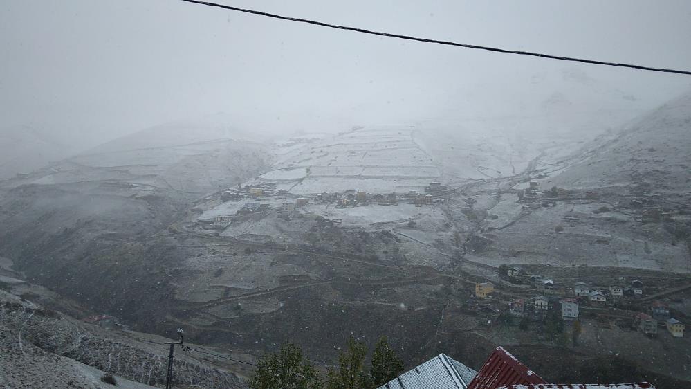
{"label": "snow-dusted mountain slope at right, rising above the lower houses", "polygon": [[[611,266],[688,273],[691,242],[691,93],[599,136],[558,163],[537,165],[556,201],[520,203],[501,194],[499,215],[470,258],[488,264]],[[537,173],[541,175],[538,175]],[[518,186],[517,188],[522,188]],[[591,192],[587,195],[587,192]],[[546,197],[553,197],[547,195]]]}

